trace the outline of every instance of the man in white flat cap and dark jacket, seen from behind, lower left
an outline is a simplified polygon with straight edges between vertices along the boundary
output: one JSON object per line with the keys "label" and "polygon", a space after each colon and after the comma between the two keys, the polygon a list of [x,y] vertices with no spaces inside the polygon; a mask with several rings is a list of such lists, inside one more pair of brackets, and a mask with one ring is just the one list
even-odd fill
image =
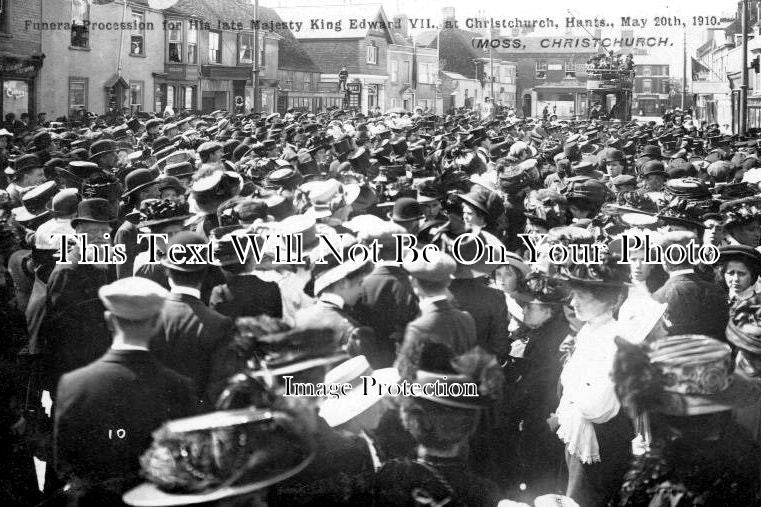
{"label": "man in white flat cap and dark jacket, seen from behind, lower left", "polygon": [[[144,278],[102,287],[113,343],[58,385],[55,463],[63,479],[120,494],[139,480],[140,455],[162,422],[195,412],[190,380],[148,351],[167,296]],[[105,500],[105,499],[104,499]]]}

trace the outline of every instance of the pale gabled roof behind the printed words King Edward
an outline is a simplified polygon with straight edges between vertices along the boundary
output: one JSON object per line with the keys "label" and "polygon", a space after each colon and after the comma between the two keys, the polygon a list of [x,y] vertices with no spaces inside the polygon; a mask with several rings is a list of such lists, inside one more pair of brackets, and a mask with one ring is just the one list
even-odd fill
{"label": "pale gabled roof behind the printed words King Edward", "polygon": [[[374,28],[385,32],[389,42],[394,42],[394,36],[389,30],[391,21],[381,4],[276,7],[275,11],[283,21],[303,23],[301,30],[294,34],[298,40],[364,39],[370,29]],[[314,25],[313,20],[316,21]],[[351,28],[350,20],[367,23],[364,27],[358,23],[355,28]],[[340,30],[336,29],[339,21]],[[336,25],[331,27],[328,23]]]}

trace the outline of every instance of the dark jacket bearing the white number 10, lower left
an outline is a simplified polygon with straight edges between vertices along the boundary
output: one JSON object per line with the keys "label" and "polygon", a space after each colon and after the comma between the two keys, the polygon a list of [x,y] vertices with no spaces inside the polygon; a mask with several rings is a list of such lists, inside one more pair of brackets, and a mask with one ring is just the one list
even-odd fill
{"label": "dark jacket bearing the white number 10, lower left", "polygon": [[55,411],[56,468],[103,481],[138,477],[138,458],[162,422],[195,412],[190,380],[150,352],[109,350],[61,377]]}

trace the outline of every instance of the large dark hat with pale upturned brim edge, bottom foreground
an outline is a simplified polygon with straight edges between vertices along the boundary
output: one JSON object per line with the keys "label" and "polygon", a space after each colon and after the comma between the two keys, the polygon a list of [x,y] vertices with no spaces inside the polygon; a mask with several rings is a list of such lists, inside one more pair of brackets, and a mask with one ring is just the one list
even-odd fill
{"label": "large dark hat with pale upturned brim edge, bottom foreground", "polygon": [[150,482],[123,501],[136,507],[215,502],[293,477],[313,456],[303,425],[286,412],[251,407],[177,419],[153,432],[140,458]]}

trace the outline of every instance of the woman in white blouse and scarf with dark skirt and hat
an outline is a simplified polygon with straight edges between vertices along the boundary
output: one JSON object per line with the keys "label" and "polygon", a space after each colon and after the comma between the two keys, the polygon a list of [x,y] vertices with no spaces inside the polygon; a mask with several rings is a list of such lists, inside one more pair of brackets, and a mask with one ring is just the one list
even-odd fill
{"label": "woman in white blouse and scarf with dark skirt and hat", "polygon": [[620,411],[610,378],[619,335],[614,313],[626,296],[628,266],[609,256],[599,265],[561,268],[571,307],[584,322],[560,376],[557,435],[565,444],[566,495],[580,505],[607,505],[618,491],[630,458],[633,430]]}

